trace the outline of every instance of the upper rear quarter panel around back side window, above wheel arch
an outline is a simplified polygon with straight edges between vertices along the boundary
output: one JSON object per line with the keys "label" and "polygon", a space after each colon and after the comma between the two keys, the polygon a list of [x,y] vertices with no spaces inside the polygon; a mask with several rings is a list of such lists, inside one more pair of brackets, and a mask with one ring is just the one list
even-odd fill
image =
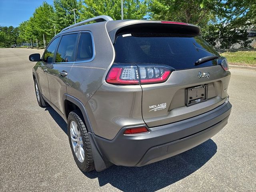
{"label": "upper rear quarter panel around back side window, above wheel arch", "polygon": [[80,100],[85,106],[104,82],[106,70],[114,60],[114,49],[105,25],[89,24],[82,31],[92,32],[95,57],[90,62],[73,64],[67,80],[67,93]]}

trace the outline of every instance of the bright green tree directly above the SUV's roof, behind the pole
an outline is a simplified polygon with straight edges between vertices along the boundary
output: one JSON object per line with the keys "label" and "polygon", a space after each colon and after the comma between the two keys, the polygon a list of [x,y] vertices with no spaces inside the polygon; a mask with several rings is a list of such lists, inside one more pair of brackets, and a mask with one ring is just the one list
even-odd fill
{"label": "bright green tree directly above the SUV's roof, behind the pole", "polygon": [[[124,19],[142,19],[146,16],[148,4],[141,0],[124,0]],[[99,15],[108,15],[114,20],[121,19],[120,0],[84,0],[80,13],[81,20]]]}

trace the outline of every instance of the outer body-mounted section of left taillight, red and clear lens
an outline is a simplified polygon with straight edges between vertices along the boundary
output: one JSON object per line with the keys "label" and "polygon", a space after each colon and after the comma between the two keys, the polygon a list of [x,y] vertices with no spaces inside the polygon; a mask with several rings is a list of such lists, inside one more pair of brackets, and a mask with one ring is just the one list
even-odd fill
{"label": "outer body-mounted section of left taillight, red and clear lens", "polygon": [[139,84],[137,66],[112,67],[108,72],[106,82],[110,84],[136,85]]}

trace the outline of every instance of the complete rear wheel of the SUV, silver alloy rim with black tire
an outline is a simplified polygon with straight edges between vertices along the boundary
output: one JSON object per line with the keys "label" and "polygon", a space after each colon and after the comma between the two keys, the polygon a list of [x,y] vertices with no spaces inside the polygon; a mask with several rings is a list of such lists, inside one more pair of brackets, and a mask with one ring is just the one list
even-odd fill
{"label": "complete rear wheel of the SUV, silver alloy rim with black tire", "polygon": [[92,146],[79,110],[72,111],[68,115],[68,138],[74,160],[80,170],[85,172],[94,170]]}

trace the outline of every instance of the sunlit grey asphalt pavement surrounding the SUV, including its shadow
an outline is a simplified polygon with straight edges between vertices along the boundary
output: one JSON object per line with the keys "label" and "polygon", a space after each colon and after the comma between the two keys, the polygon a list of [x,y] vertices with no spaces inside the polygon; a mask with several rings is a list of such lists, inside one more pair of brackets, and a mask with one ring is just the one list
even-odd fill
{"label": "sunlit grey asphalt pavement surrounding the SUV, including its shadow", "polygon": [[66,123],[37,104],[28,60],[36,52],[0,49],[0,191],[255,191],[256,70],[230,69],[232,112],[212,139],[144,167],[83,173]]}

